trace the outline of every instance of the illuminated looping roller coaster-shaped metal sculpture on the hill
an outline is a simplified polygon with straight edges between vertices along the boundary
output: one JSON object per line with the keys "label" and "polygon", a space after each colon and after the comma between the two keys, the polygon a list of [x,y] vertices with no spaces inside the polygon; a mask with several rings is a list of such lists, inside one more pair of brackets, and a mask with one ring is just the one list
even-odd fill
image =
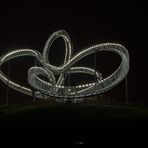
{"label": "illuminated looping roller coaster-shaped metal sculpture on the hill", "polygon": [[[64,63],[61,66],[51,65],[48,61],[48,53],[50,47],[55,39],[62,37],[65,42],[65,59]],[[101,73],[97,72],[94,69],[87,67],[72,67],[80,59],[94,54],[96,52],[107,51],[114,52],[121,57],[121,63],[116,71],[106,78],[102,78]],[[115,43],[104,43],[94,45],[92,47],[86,48],[79,53],[72,56],[72,45],[68,33],[64,30],[54,32],[49,39],[47,40],[43,56],[36,50],[32,49],[19,49],[0,57],[0,67],[5,62],[21,57],[21,56],[33,56],[42,66],[34,66],[28,70],[28,82],[33,87],[26,88],[15,82],[9,80],[2,70],[0,69],[0,79],[7,84],[12,89],[15,89],[19,92],[27,94],[29,96],[35,96],[36,98],[47,99],[49,96],[55,98],[80,98],[95,94],[101,94],[113,88],[115,85],[120,83],[129,71],[129,54],[126,48],[120,44]],[[87,83],[77,86],[65,86],[64,79],[69,73],[85,73],[93,75],[96,78],[96,81],[93,83]],[[48,82],[42,79],[40,76],[45,76],[49,80]],[[58,80],[56,81],[55,75],[59,75]]]}

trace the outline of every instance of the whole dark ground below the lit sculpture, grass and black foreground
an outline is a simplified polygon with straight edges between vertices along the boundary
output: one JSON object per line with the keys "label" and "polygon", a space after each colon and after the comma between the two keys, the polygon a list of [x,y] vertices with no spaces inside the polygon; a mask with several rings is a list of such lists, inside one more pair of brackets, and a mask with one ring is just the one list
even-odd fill
{"label": "whole dark ground below the lit sculpture, grass and black foreground", "polygon": [[147,144],[148,108],[37,101],[0,107],[0,123],[1,140],[18,147],[132,147]]}

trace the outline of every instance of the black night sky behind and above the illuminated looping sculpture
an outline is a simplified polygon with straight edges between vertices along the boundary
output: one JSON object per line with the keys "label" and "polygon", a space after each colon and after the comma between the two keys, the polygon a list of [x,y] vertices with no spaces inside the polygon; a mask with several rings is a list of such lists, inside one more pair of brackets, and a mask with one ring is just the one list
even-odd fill
{"label": "black night sky behind and above the illuminated looping sculpture", "polygon": [[[42,52],[49,35],[59,29],[65,29],[70,34],[74,53],[96,43],[121,43],[130,54],[129,98],[142,101],[148,99],[146,88],[148,79],[146,78],[148,64],[146,52],[147,28],[144,4],[138,2],[132,4],[126,2],[101,3],[97,0],[85,1],[85,3],[76,1],[67,3],[13,1],[5,2],[1,4],[1,7],[0,55],[19,48],[32,48]],[[61,54],[57,52],[51,52],[51,54],[57,54],[60,59]],[[110,66],[107,66],[107,64],[110,61],[113,65],[116,61],[116,57],[115,59],[109,58],[109,55],[106,55],[106,60],[103,59],[102,70],[104,66],[106,66],[104,70],[109,69]],[[28,67],[25,65],[29,65],[31,61],[31,58],[20,59],[20,61],[19,59],[18,61],[14,60],[11,70],[15,70],[10,72],[10,77],[13,77],[12,79],[16,82],[19,82],[20,79],[22,83],[24,81],[26,81],[24,83],[27,83],[25,78],[27,72],[24,73],[23,68],[27,69]],[[33,65],[33,62],[31,64]],[[20,72],[17,74],[19,70]],[[2,98],[6,88],[2,83],[0,84],[0,98]],[[118,91],[116,88],[115,90]],[[11,93],[15,97],[16,95],[25,97],[13,91]]]}

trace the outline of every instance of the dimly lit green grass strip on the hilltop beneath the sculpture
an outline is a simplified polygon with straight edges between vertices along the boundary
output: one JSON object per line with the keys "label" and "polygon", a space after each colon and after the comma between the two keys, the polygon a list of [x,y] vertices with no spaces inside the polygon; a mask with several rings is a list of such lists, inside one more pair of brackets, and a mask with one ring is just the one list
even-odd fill
{"label": "dimly lit green grass strip on the hilltop beneath the sculpture", "polygon": [[21,105],[0,106],[0,119],[57,120],[147,118],[148,108],[131,105],[60,104],[36,101]]}

